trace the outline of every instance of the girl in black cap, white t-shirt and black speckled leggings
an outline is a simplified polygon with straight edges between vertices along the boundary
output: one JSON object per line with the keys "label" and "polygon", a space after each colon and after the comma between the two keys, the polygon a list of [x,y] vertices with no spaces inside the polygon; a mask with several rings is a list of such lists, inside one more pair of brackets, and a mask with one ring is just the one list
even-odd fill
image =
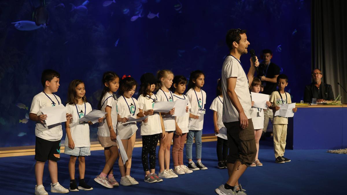
{"label": "girl in black cap, white t-shirt and black speckled leggings", "polygon": [[[154,112],[154,103],[158,101],[158,97],[153,94],[155,84],[158,80],[153,74],[145,73],[141,76],[141,86],[138,97],[138,117],[148,116],[147,122],[141,123],[142,136],[142,166],[145,172],[144,181],[147,183],[155,183],[163,181],[155,173],[156,146],[159,137],[166,139],[166,132],[163,119],[160,112]],[[149,161],[149,164],[148,164]]]}

